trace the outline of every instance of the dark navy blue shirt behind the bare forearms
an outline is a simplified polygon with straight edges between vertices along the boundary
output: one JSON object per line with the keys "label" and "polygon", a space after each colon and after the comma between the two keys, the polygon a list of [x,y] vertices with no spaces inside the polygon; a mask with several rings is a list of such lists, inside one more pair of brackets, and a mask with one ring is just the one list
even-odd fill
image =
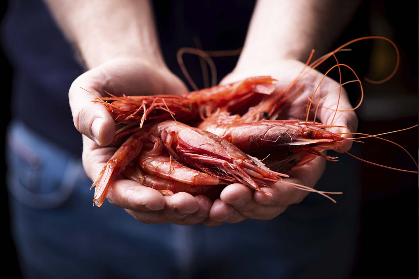
{"label": "dark navy blue shirt behind the bare forearms", "polygon": [[[183,78],[176,51],[195,47],[194,38],[207,50],[240,48],[254,1],[161,1],[154,5],[163,56],[168,67]],[[72,123],[68,90],[84,69],[43,1],[10,1],[2,41],[14,71],[12,118],[80,156],[81,135]],[[233,70],[236,61],[237,57],[215,58],[218,81]],[[203,87],[198,58],[185,56],[185,64]]]}

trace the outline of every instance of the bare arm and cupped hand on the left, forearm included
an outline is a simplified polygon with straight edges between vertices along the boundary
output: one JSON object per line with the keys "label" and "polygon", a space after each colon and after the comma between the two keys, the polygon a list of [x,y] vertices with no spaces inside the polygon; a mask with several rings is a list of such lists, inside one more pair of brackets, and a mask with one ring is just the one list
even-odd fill
{"label": "bare arm and cupped hand on the left, forearm included", "polygon": [[[186,86],[166,67],[160,53],[149,1],[45,1],[57,24],[74,44],[88,69],[69,90],[74,125],[83,134],[83,166],[96,179],[116,148],[115,124],[95,97],[183,94]],[[122,178],[122,177],[121,177]],[[128,179],[119,179],[108,194],[113,205],[124,208],[144,223],[199,223],[209,215],[212,202],[203,196],[158,191]]]}

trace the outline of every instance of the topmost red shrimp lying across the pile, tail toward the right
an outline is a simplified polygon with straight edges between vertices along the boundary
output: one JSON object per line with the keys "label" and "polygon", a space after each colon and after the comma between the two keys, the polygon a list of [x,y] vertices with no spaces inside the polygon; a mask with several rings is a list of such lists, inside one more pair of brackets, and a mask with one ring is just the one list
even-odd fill
{"label": "topmost red shrimp lying across the pile, tail toward the right", "polygon": [[134,133],[146,120],[160,122],[170,118],[192,121],[212,113],[217,107],[234,108],[254,95],[271,94],[276,80],[272,77],[249,77],[239,82],[218,85],[184,95],[96,97],[92,102],[105,105],[116,123],[128,124],[116,131],[116,138]]}

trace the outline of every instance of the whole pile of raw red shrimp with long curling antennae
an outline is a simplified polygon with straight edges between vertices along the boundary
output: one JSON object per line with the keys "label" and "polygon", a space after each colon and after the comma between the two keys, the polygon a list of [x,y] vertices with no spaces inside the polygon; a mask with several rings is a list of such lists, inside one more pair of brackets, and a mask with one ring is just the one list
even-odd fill
{"label": "whole pile of raw red shrimp with long curling antennae", "polygon": [[[380,81],[385,82],[398,68],[397,47],[387,38],[364,37],[350,41],[310,63],[312,51],[305,68],[284,89],[277,89],[277,80],[272,77],[262,76],[196,90],[185,95],[117,97],[106,92],[110,97],[96,97],[93,102],[106,106],[116,124],[123,125],[116,131],[114,142],[120,138],[128,138],[93,182],[92,188],[96,186],[94,205],[102,205],[119,174],[144,186],[153,187],[163,195],[187,192],[191,195],[206,195],[214,200],[227,184],[237,182],[265,195],[271,194],[264,191],[264,187],[285,184],[304,191],[317,192],[336,202],[328,194],[341,192],[318,191],[304,185],[284,182],[282,178],[289,177],[285,174],[287,171],[307,164],[317,156],[328,161],[337,161],[337,157],[327,156],[323,151],[343,150],[341,146],[345,141],[367,137],[388,140],[380,138],[382,134],[332,133],[331,128],[347,128],[333,124],[337,112],[348,111],[338,109],[339,101],[335,109],[330,108],[335,110],[331,123],[316,122],[321,100],[317,104],[313,100],[321,82],[308,100],[305,121],[278,118],[281,111],[301,92],[302,86],[296,86],[297,81],[331,56],[334,56],[336,65],[324,74],[323,79],[332,69],[338,68],[340,96],[344,85],[341,81],[341,67],[350,69],[356,78],[352,82],[360,84],[360,105],[363,97],[362,83],[349,66],[339,64],[335,54],[349,44],[369,38],[386,40],[396,49],[396,66],[387,78]],[[209,54],[202,50],[184,49],[178,53],[178,60],[181,61],[181,54],[188,51],[199,54],[210,65],[213,64]],[[182,62],[179,64],[183,65]],[[186,68],[183,67],[182,70],[186,78],[190,79]],[[197,89],[193,82],[191,84]],[[312,106],[316,108],[313,109]],[[314,112],[313,121],[308,120],[310,112]],[[343,134],[363,137],[344,138]],[[397,143],[393,144],[406,151]],[[409,156],[413,159],[410,154]],[[414,159],[413,161],[416,164]]]}

